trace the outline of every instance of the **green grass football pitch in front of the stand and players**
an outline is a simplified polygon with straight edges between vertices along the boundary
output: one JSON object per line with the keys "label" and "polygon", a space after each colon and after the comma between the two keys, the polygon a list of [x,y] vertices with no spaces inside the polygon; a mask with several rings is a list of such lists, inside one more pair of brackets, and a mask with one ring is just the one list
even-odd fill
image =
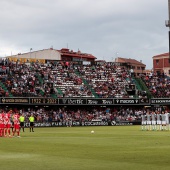
{"label": "green grass football pitch in front of the stand and players", "polygon": [[170,131],[141,131],[140,126],[25,129],[21,138],[0,138],[0,169],[169,170]]}

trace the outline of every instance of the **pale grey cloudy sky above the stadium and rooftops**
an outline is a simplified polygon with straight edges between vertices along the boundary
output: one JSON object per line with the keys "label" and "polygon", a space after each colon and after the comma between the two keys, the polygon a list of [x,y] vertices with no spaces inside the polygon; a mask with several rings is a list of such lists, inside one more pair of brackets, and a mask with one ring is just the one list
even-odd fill
{"label": "pale grey cloudy sky above the stadium and rooftops", "polygon": [[169,50],[168,0],[0,0],[0,56],[69,48],[142,61]]}

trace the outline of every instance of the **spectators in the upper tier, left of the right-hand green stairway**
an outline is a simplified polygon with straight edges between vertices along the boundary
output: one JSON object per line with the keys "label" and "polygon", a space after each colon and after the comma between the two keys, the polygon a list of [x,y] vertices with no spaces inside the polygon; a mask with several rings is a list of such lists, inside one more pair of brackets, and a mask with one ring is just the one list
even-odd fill
{"label": "spectators in the upper tier, left of the right-hand green stairway", "polygon": [[19,63],[0,60],[0,97],[128,98],[132,77],[124,67]]}

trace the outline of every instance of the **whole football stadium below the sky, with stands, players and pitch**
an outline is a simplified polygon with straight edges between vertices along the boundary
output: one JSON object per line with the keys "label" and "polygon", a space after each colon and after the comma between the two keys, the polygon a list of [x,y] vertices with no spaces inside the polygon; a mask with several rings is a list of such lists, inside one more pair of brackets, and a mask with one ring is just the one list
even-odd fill
{"label": "whole football stadium below the sky, with stands, players and pitch", "polygon": [[152,60],[53,47],[1,57],[0,169],[169,170],[170,43]]}

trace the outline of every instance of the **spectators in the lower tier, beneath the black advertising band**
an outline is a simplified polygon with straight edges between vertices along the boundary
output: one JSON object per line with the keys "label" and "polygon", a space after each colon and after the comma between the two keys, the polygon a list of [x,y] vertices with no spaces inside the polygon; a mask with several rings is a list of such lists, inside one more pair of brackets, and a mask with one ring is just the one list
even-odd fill
{"label": "spectators in the lower tier, beneath the black advertising band", "polygon": [[[1,110],[4,110],[1,108]],[[35,122],[37,123],[50,123],[61,122],[64,123],[68,120],[77,122],[86,121],[137,121],[141,120],[141,115],[146,113],[143,107],[58,107],[58,108],[21,108],[13,109],[20,115],[24,115],[25,122],[29,122],[29,117],[33,114]]]}

